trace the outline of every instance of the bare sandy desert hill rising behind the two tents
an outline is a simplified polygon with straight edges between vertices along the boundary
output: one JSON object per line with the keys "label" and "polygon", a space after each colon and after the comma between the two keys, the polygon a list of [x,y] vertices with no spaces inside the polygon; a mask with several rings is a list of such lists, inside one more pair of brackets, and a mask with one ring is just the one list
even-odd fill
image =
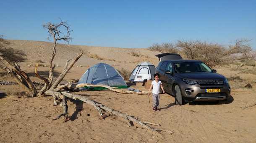
{"label": "bare sandy desert hill rising behind the two tents", "polygon": [[[34,63],[35,60],[42,60],[48,63],[52,54],[53,43],[31,40],[8,40],[8,47],[22,50],[27,55],[26,63]],[[115,48],[96,47],[86,45],[57,45],[57,54],[54,60],[56,65],[63,66],[66,60],[76,57],[80,50],[84,54],[76,65],[91,66],[96,63],[107,63],[116,68],[132,70],[138,63],[149,61],[157,66],[159,62],[155,57],[157,52],[152,52],[147,48]]]}

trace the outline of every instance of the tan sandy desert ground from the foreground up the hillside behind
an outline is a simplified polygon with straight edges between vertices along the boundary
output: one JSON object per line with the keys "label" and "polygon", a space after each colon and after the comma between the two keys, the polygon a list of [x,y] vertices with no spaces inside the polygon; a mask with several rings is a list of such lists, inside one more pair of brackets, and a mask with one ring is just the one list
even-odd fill
{"label": "tan sandy desert ground from the foreground up the hillside behind", "polygon": [[[21,63],[21,67],[29,73],[33,81],[39,82],[40,80],[34,77],[34,68],[27,66],[39,56],[29,49],[33,48],[31,45],[37,47],[41,44],[44,50],[39,53],[47,53],[45,49],[50,43],[34,42],[33,44],[31,41],[20,40],[12,42],[14,48],[26,47],[24,51],[29,60]],[[70,70],[64,80],[80,78],[94,63],[109,63],[115,68],[125,68],[131,71],[137,63],[145,60],[142,58],[145,56],[138,58],[131,56],[129,52],[134,49],[118,48],[120,51],[111,55],[111,51],[116,50],[115,48],[77,47],[82,47],[91,54],[97,53],[105,59],[114,58],[116,61],[97,60],[85,55]],[[149,55],[147,59],[157,65],[155,53],[146,49],[138,49],[138,53],[143,53],[143,51]],[[72,54],[75,56],[77,53]],[[61,58],[57,55],[55,63],[60,67],[56,67],[55,77],[61,72],[68,58]],[[47,62],[47,59],[44,61]],[[79,67],[82,64],[83,67]],[[52,105],[52,97],[28,98],[18,85],[0,85],[0,91],[6,93],[0,94],[0,143],[256,143],[256,105],[254,105],[256,103],[256,75],[239,74],[230,71],[229,68],[216,67],[218,73],[227,77],[239,75],[250,82],[253,88],[232,88],[231,97],[226,104],[193,102],[179,106],[174,104],[174,98],[171,95],[161,94],[161,111],[154,112],[152,99],[150,98],[149,103],[147,95],[120,94],[112,91],[73,93],[88,96],[115,110],[134,115],[142,121],[161,124],[159,128],[174,132],[172,135],[163,132],[163,136],[153,134],[137,124],[128,127],[123,118],[115,115],[101,120],[97,110],[91,105],[76,100],[68,100],[68,113],[71,120],[64,122],[62,117],[60,120],[53,121],[52,119],[62,113],[63,109],[59,105]],[[39,67],[39,73],[46,77],[48,69],[49,67]],[[12,79],[3,76],[0,80]],[[146,91],[141,84],[138,83],[134,88]],[[235,86],[235,83],[230,84],[231,87]],[[240,84],[244,86],[246,83]]]}

